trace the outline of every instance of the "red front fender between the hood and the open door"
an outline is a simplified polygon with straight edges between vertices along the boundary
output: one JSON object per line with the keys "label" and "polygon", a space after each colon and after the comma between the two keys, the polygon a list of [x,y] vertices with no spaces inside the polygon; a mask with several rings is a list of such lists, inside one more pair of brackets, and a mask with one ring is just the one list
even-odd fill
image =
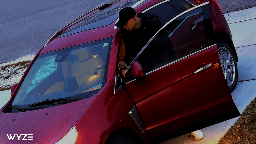
{"label": "red front fender between the hood and the open door", "polygon": [[136,132],[146,141],[146,132],[142,133],[129,115],[129,111],[134,106],[132,99],[123,88],[114,95],[114,80],[113,78],[103,87],[76,122],[78,131],[76,143],[103,144],[113,132],[122,128]]}

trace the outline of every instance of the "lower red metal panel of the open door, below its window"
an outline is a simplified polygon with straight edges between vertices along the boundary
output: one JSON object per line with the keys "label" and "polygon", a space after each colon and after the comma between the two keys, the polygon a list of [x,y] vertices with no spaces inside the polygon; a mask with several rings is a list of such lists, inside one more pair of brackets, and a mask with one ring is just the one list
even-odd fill
{"label": "lower red metal panel of the open door, below its window", "polygon": [[[150,137],[236,109],[229,91],[216,90],[227,89],[227,84],[220,79],[220,63],[209,57],[218,60],[216,45],[126,85]],[[207,72],[194,74],[197,66],[203,64],[201,59],[214,64]],[[209,83],[215,88],[209,88]]]}

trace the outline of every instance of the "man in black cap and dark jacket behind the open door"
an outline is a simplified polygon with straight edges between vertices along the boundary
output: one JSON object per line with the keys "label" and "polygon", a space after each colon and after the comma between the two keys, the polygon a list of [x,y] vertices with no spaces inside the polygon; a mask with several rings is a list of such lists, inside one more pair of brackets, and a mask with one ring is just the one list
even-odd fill
{"label": "man in black cap and dark jacket behind the open door", "polygon": [[[137,14],[131,7],[125,7],[119,12],[119,20],[115,26],[124,28],[122,29],[121,37],[125,45],[124,60],[118,62],[118,65],[121,66],[119,68],[120,71],[125,69],[127,65],[132,62],[149,39],[163,26],[159,19],[160,17],[154,14],[149,14],[148,16],[143,13]],[[165,39],[165,37],[163,37],[163,39]],[[169,42],[166,41],[166,44],[171,45],[171,41]],[[174,53],[171,52],[170,55],[171,58],[174,57]],[[191,132],[190,134],[195,140],[204,138],[204,134],[199,130]]]}

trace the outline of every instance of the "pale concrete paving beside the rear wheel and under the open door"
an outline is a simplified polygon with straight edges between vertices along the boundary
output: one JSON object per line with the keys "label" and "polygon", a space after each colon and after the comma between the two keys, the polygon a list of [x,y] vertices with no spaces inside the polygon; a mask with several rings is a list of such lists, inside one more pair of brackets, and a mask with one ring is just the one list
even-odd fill
{"label": "pale concrete paving beside the rear wheel and under the open door", "polygon": [[[231,93],[242,113],[256,96],[256,7],[224,14],[238,55],[238,83]],[[161,144],[217,144],[239,117],[201,129],[204,139],[194,140],[188,134]]]}

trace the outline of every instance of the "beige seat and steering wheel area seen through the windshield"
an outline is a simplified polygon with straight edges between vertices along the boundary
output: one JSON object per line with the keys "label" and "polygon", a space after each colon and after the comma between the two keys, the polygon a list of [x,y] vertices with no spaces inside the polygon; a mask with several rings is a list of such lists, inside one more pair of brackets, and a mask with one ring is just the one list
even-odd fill
{"label": "beige seat and steering wheel area seen through the windshield", "polygon": [[[44,94],[78,88],[80,91],[93,91],[99,89],[104,74],[103,60],[100,55],[92,54],[89,47],[76,49],[71,52],[71,57],[76,55],[77,60],[61,62],[64,82],[58,82],[48,89]],[[96,71],[97,68],[100,68]],[[96,71],[96,72],[95,72]]]}

